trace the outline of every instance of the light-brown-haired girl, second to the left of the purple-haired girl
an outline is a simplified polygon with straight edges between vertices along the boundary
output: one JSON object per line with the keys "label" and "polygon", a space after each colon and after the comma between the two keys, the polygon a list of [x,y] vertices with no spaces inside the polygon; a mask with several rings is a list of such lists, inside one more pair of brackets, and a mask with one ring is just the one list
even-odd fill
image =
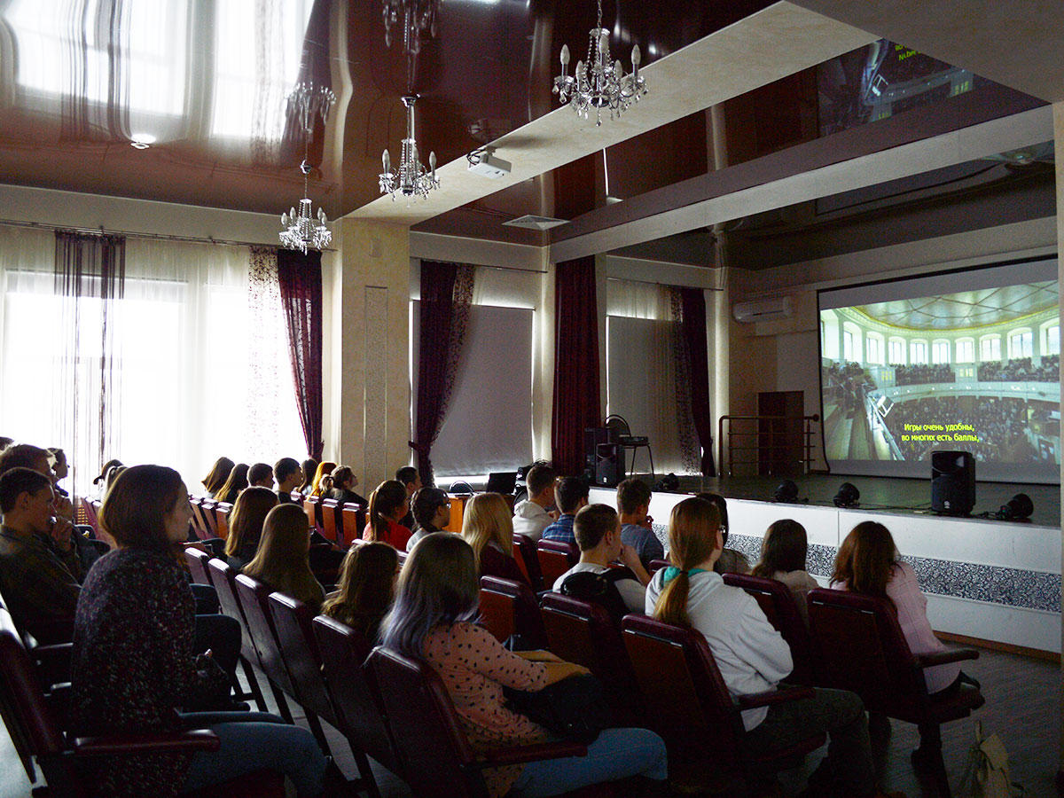
{"label": "light-brown-haired girl, second to the left of the purple-haired girl", "polygon": [[297,598],[317,615],[326,594],[311,571],[311,529],[298,504],[278,504],[266,516],[259,552],[243,572]]}

